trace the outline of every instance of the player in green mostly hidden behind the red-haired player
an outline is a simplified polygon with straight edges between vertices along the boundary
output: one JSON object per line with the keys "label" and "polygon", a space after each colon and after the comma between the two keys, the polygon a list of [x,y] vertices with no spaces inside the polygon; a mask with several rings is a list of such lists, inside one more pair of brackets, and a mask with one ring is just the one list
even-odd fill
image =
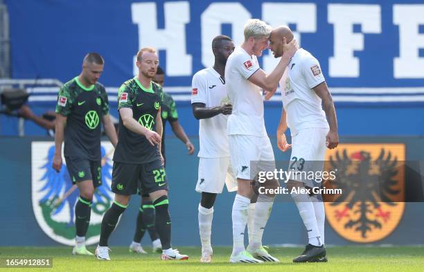
{"label": "player in green mostly hidden behind the red-haired player", "polygon": [[[165,73],[164,70],[161,69],[161,66],[157,66],[157,73],[154,75],[152,81],[159,84],[161,87],[164,87],[164,75]],[[166,92],[164,92],[164,99],[161,104],[161,118],[163,124],[161,154],[164,157],[164,165],[166,165],[165,125],[167,120],[169,120],[174,134],[186,145],[188,154],[193,154],[195,147],[191,143],[190,139],[188,139],[186,136],[183,127],[179,124],[175,101],[173,100],[173,97]],[[139,194],[141,194],[141,192],[139,192]],[[156,229],[154,228],[154,206],[152,200],[149,197],[149,194],[143,193],[141,195],[141,206],[139,208],[139,213],[136,219],[136,230],[134,233],[133,241],[130,245],[130,252],[146,253],[140,244],[146,229],[149,232],[150,239],[152,239],[152,251],[161,253],[161,240],[158,238]]]}

